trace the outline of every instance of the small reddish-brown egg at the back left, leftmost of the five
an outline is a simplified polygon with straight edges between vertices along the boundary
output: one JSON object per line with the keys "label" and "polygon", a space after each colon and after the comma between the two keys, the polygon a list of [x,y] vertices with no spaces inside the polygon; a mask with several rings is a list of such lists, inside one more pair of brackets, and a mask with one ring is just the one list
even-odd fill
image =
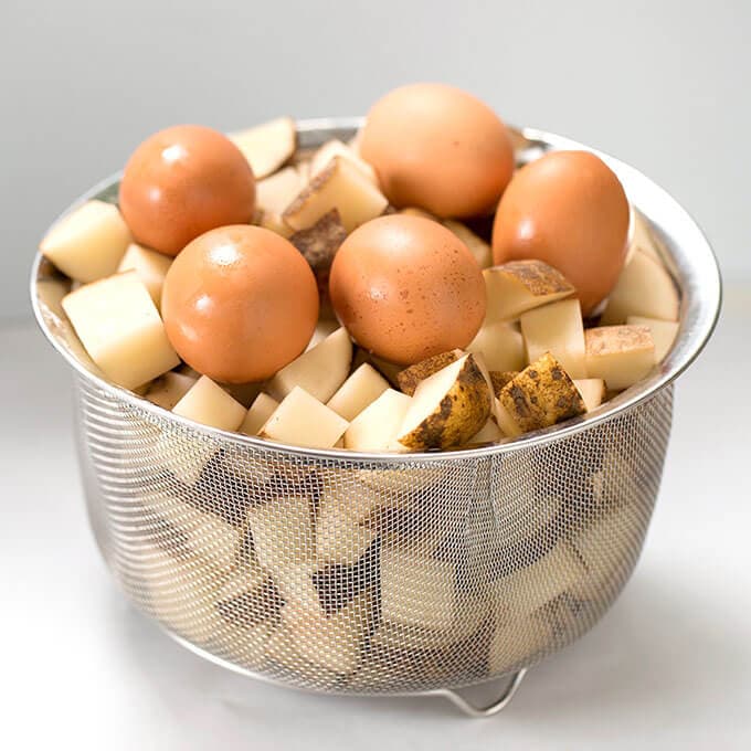
{"label": "small reddish-brown egg at the back left, leftmost of the five", "polygon": [[166,255],[255,211],[255,178],[240,149],[199,125],[177,125],[147,138],[123,172],[120,211],[135,239]]}

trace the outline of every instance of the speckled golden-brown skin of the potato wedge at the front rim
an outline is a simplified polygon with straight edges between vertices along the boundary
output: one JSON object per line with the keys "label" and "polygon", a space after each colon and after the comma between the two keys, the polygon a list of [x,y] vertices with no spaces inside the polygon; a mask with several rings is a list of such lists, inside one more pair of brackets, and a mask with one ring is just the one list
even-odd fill
{"label": "speckled golden-brown skin of the potato wedge at the front rim", "polygon": [[413,451],[464,445],[490,416],[491,394],[472,355],[436,410],[399,443]]}

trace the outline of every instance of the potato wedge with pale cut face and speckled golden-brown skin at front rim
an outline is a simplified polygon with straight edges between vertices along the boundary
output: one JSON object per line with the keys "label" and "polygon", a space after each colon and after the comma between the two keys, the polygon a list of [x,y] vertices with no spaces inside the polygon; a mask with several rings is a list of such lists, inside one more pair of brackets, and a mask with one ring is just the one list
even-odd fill
{"label": "potato wedge with pale cut face and speckled golden-brown skin at front rim", "polygon": [[416,451],[461,446],[485,425],[491,408],[490,388],[465,355],[420,382],[396,440]]}

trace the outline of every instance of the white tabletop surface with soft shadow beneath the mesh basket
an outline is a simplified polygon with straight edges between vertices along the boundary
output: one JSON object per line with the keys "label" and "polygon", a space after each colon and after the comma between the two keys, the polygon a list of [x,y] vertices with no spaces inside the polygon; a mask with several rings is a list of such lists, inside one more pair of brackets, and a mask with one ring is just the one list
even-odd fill
{"label": "white tabletop surface with soft shadow beneath the mesh basket", "polygon": [[68,377],[31,325],[0,330],[0,748],[751,748],[751,288],[681,379],[663,491],[605,618],[532,669],[505,713],[311,696],[194,657],[138,615],[87,529]]}

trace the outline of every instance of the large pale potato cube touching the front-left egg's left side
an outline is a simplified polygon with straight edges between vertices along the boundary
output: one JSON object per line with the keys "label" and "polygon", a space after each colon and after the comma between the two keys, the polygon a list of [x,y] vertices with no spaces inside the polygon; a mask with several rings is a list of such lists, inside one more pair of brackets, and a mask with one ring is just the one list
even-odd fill
{"label": "large pale potato cube touching the front-left egg's left side", "polygon": [[92,360],[118,385],[134,389],[180,364],[136,272],[86,284],[62,306]]}

